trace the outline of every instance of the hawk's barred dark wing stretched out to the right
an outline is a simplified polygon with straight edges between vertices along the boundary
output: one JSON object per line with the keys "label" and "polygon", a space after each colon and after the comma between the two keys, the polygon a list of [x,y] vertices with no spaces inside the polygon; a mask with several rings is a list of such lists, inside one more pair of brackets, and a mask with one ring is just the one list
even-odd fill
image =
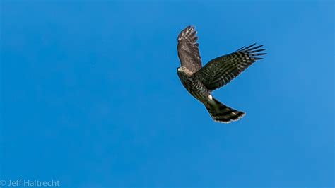
{"label": "hawk's barred dark wing stretched out to the right", "polygon": [[254,61],[262,59],[259,56],[266,54],[259,53],[265,50],[261,49],[263,45],[256,47],[254,45],[256,43],[237,49],[231,54],[212,59],[194,75],[199,76],[208,90],[216,90],[233,80]]}

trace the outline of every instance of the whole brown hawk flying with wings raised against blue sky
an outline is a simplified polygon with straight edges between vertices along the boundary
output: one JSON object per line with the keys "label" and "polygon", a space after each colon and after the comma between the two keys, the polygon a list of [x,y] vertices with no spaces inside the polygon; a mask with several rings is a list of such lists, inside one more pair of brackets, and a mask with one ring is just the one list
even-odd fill
{"label": "whole brown hawk flying with wings raised against blue sky", "polygon": [[181,66],[177,74],[182,85],[205,105],[214,121],[229,123],[240,119],[245,112],[223,105],[213,98],[211,92],[225,86],[256,60],[262,59],[260,56],[266,54],[259,53],[265,50],[261,48],[263,45],[255,46],[255,43],[242,47],[202,66],[197,40],[194,26],[184,28],[178,35],[177,50]]}

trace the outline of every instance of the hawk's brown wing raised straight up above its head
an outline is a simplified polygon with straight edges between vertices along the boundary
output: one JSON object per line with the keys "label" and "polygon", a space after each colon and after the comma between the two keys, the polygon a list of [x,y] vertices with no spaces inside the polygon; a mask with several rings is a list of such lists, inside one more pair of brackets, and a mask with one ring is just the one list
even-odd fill
{"label": "hawk's brown wing raised straight up above its head", "polygon": [[196,42],[196,30],[193,26],[184,28],[178,35],[178,57],[182,66],[192,72],[201,69],[201,57],[199,54],[199,44]]}

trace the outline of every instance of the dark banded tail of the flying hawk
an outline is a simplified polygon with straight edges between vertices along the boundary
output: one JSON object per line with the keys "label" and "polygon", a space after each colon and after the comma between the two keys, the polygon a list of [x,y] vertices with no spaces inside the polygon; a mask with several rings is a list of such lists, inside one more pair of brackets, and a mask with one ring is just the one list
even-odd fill
{"label": "dark banded tail of the flying hawk", "polygon": [[237,121],[245,115],[245,112],[223,105],[215,98],[210,100],[210,102],[208,102],[205,106],[209,114],[211,114],[211,117],[216,122],[229,123],[231,121]]}

